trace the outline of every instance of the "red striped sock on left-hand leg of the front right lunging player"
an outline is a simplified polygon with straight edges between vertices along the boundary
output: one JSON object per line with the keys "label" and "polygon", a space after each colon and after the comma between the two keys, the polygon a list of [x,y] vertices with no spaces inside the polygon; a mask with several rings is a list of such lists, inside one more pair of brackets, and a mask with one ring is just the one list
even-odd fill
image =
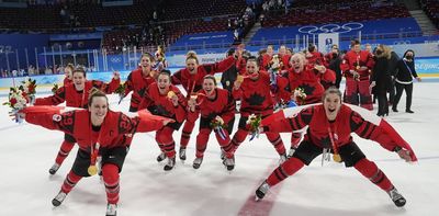
{"label": "red striped sock on left-hand leg of the front right lunging player", "polygon": [[278,184],[279,182],[283,181],[288,177],[294,174],[297,172],[300,169],[302,169],[304,163],[302,160],[299,160],[297,158],[290,158],[285,162],[283,162],[281,166],[279,166],[267,179],[267,183],[270,186],[273,186]]}

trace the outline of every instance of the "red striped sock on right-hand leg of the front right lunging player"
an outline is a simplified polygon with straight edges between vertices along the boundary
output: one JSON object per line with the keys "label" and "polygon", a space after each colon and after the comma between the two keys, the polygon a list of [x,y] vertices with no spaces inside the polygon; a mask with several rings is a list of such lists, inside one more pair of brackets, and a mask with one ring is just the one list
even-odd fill
{"label": "red striped sock on right-hand leg of the front right lunging player", "polygon": [[356,163],[354,168],[382,190],[390,191],[393,187],[392,182],[374,162],[363,158]]}

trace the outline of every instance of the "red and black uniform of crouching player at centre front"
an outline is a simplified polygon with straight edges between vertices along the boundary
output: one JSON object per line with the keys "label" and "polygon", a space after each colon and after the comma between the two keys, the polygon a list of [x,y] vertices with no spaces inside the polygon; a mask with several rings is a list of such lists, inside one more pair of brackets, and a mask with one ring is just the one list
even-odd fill
{"label": "red and black uniform of crouching player at centre front", "polygon": [[[188,118],[193,122],[200,116],[200,133],[196,136],[196,158],[203,158],[204,151],[207,146],[209,136],[212,129],[215,130],[216,140],[224,151],[226,157],[232,158],[232,149],[224,149],[229,143],[229,134],[232,134],[233,125],[235,123],[235,100],[232,94],[224,89],[215,89],[215,98],[209,99],[207,96],[196,98],[196,107],[194,112],[188,112]],[[204,90],[199,91],[200,94],[206,94]],[[212,128],[211,123],[219,116],[224,121],[225,128],[219,132],[219,128]],[[222,137],[224,136],[224,137]]]}

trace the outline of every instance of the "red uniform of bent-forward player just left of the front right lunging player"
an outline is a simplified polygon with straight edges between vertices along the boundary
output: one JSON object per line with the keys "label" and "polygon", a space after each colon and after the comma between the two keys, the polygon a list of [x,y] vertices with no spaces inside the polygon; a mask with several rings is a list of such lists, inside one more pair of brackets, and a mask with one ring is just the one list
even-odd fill
{"label": "red uniform of bent-forward player just left of the front right lunging player", "polygon": [[[238,130],[235,133],[230,144],[224,149],[234,152],[248,135],[248,128],[246,125],[249,115],[260,115],[264,118],[273,113],[270,77],[267,71],[260,70],[257,80],[245,78],[239,89],[233,90],[233,96],[236,100],[241,100],[240,118]],[[266,135],[278,154],[284,156],[285,147],[283,146],[279,133],[267,133]]]}

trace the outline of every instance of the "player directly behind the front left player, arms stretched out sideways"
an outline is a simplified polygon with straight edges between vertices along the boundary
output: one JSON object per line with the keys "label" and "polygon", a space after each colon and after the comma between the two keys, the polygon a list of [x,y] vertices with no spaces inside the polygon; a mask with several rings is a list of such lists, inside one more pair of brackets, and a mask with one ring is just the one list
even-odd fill
{"label": "player directly behind the front left player, arms stretched out sideways", "polygon": [[[59,88],[52,96],[36,99],[34,105],[58,105],[66,102],[66,106],[87,109],[87,99],[92,88],[100,89],[108,94],[114,92],[121,80],[119,72],[115,72],[113,76],[110,83],[104,83],[99,80],[87,80],[86,71],[82,68],[77,68],[72,72],[72,84]],[[69,134],[64,135],[64,141],[59,148],[55,163],[48,170],[50,174],[55,174],[56,171],[58,171],[70,150],[74,148],[75,143],[75,137]]]}

